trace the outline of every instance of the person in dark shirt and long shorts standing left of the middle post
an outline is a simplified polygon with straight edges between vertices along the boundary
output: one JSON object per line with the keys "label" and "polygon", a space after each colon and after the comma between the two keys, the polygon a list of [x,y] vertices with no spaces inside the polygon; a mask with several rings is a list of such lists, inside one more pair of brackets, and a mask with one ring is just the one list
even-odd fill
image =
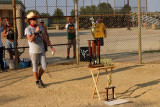
{"label": "person in dark shirt and long shorts standing left of the middle post", "polygon": [[75,35],[75,25],[71,17],[68,17],[69,23],[66,24],[67,30],[67,39],[68,39],[68,47],[67,47],[67,59],[70,59],[70,48],[73,46],[73,58],[76,58],[76,35]]}

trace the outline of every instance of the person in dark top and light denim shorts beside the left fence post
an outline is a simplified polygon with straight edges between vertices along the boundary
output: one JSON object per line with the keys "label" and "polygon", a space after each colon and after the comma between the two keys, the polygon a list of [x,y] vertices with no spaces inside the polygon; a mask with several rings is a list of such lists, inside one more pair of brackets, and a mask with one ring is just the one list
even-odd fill
{"label": "person in dark top and light denim shorts beside the left fence post", "polygon": [[[3,31],[3,36],[6,37],[7,48],[15,48],[14,28],[8,17],[5,18],[6,26]],[[14,49],[8,49],[10,60],[13,59]]]}

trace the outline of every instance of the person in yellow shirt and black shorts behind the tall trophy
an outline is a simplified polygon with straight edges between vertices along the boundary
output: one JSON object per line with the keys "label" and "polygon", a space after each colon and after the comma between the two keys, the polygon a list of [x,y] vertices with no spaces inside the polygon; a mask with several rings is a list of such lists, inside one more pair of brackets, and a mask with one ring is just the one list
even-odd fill
{"label": "person in yellow shirt and black shorts behind the tall trophy", "polygon": [[96,25],[95,25],[95,40],[96,40],[96,45],[98,45],[98,40],[100,40],[100,46],[104,45],[104,39],[106,38],[106,27],[104,23],[102,22],[102,19],[98,17]]}

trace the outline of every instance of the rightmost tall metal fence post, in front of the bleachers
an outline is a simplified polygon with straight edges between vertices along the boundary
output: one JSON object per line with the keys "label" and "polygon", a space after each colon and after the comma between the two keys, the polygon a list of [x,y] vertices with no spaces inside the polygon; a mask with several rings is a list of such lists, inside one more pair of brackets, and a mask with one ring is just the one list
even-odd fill
{"label": "rightmost tall metal fence post, in front of the bleachers", "polygon": [[139,63],[142,64],[141,44],[141,0],[138,0],[138,30],[139,30]]}

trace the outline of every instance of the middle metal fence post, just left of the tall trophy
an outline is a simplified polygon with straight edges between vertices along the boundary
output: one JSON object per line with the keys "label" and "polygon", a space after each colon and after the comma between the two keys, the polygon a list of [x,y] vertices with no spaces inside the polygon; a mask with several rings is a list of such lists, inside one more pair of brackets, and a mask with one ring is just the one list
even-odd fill
{"label": "middle metal fence post, just left of the tall trophy", "polygon": [[80,43],[80,40],[79,40],[79,35],[78,35],[78,0],[74,0],[74,6],[75,6],[75,22],[76,22],[76,60],[77,60],[77,63],[79,63],[80,61],[80,47],[79,47],[79,43]]}

